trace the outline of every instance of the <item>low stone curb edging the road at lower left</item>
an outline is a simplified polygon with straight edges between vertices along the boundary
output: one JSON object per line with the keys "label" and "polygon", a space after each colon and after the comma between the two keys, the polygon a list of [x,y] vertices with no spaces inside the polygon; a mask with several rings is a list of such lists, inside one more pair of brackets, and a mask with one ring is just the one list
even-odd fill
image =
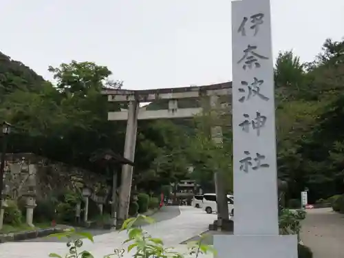
{"label": "low stone curb edging the road at lower left", "polygon": [[16,233],[7,233],[7,234],[0,234],[0,243],[6,243],[10,241],[22,241],[27,239],[34,239],[37,237],[47,237],[53,233],[62,233],[69,228],[45,228],[45,229],[37,229],[37,230],[30,230],[30,231],[23,231],[23,232],[16,232]]}

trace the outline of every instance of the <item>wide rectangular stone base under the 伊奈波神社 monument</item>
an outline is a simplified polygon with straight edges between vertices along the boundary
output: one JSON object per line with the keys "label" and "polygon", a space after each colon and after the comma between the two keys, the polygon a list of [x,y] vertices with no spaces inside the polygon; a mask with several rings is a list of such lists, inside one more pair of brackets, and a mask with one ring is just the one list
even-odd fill
{"label": "wide rectangular stone base under the \u4f0a\u5948\u6ce2\u795e\u793e monument", "polygon": [[298,258],[296,235],[214,235],[218,258]]}

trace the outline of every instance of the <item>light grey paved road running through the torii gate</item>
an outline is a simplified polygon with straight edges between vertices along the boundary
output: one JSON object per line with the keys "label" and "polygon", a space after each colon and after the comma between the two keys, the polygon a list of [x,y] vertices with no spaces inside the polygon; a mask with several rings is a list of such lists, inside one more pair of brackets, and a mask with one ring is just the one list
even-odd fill
{"label": "light grey paved road running through the torii gate", "polygon": [[[178,207],[169,206],[172,211]],[[160,222],[144,226],[153,237],[159,237],[164,241],[165,246],[175,246],[177,250],[185,251],[186,245],[179,245],[180,242],[195,235],[203,233],[208,228],[208,224],[213,222],[216,215],[206,214],[201,209],[191,206],[181,206],[180,215],[173,217],[169,211],[162,213]],[[170,218],[170,219],[169,219]],[[157,219],[159,220],[159,219]],[[114,251],[114,248],[121,248],[122,242],[127,239],[126,232],[109,232],[94,237],[94,244],[85,240],[82,250],[92,252],[94,257],[103,257]],[[61,242],[17,242],[0,244],[0,258],[46,258],[50,252],[65,255],[67,248]],[[131,254],[123,258],[132,257]]]}

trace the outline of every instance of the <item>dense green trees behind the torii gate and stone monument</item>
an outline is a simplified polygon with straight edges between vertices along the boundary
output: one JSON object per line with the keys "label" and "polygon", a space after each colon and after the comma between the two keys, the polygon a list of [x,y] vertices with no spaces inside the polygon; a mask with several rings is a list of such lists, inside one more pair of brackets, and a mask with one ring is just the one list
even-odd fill
{"label": "dense green trees behind the torii gate and stone monument", "polygon": [[[120,109],[100,93],[121,87],[111,71],[91,62],[49,67],[56,84],[0,54],[0,120],[14,125],[9,151],[34,152],[86,169],[105,172],[89,157],[96,149],[122,154],[125,122],[107,121]],[[288,182],[288,199],[308,188],[310,202],[344,189],[344,41],[328,39],[312,63],[281,52],[275,67],[279,178]],[[183,107],[200,105],[183,100]],[[153,103],[149,109],[166,106]],[[140,121],[134,184],[158,193],[186,176],[213,191],[213,173],[226,174],[232,189],[230,118],[209,111],[189,121]],[[224,127],[223,148],[209,137],[211,126]],[[188,173],[193,165],[194,170]],[[111,180],[109,180],[111,182]]]}

